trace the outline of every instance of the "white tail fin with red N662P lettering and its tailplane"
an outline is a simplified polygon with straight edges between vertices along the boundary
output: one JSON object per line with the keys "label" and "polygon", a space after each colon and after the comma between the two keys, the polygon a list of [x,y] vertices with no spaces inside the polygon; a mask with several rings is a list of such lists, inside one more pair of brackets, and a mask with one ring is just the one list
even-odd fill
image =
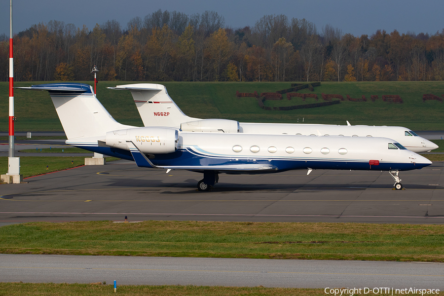
{"label": "white tail fin with red N662P lettering and its tailplane", "polygon": [[168,95],[164,85],[139,83],[108,88],[131,91],[137,111],[145,126],[181,128],[181,123],[199,120],[199,118],[185,115]]}

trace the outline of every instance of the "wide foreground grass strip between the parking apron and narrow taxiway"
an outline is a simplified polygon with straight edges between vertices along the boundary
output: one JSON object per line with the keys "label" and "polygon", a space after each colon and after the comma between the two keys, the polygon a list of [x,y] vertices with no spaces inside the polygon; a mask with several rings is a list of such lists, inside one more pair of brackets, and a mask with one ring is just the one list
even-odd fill
{"label": "wide foreground grass strip between the parking apron and narrow taxiway", "polygon": [[0,253],[444,262],[444,225],[30,222],[0,227]]}

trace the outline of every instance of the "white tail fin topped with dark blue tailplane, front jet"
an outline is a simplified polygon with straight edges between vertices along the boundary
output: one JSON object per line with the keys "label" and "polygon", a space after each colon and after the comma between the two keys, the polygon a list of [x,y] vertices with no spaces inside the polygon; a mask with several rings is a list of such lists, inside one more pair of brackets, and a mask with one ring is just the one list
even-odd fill
{"label": "white tail fin topped with dark blue tailplane, front jet", "polygon": [[18,88],[49,92],[68,140],[105,136],[110,130],[130,127],[112,118],[88,84],[49,83]]}

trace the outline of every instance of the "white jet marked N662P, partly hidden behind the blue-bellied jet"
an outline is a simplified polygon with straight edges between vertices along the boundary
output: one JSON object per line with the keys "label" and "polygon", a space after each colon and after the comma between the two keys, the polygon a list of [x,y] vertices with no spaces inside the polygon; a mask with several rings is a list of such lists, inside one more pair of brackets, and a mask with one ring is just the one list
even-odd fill
{"label": "white jet marked N662P, partly hidden behind the blue-bellied jet", "polygon": [[131,91],[145,126],[174,127],[189,132],[382,137],[393,139],[416,153],[438,148],[435,143],[400,126],[248,123],[227,119],[200,119],[185,115],[168,95],[164,85],[140,83],[117,85],[110,88]]}

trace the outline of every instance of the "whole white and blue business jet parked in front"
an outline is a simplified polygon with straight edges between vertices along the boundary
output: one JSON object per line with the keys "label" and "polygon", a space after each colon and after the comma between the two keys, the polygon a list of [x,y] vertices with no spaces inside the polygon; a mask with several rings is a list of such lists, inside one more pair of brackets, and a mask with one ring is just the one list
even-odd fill
{"label": "whole white and blue business jet parked in front", "polygon": [[219,174],[263,174],[313,169],[388,171],[402,189],[399,171],[432,162],[388,138],[186,132],[174,127],[118,123],[90,85],[51,83],[20,87],[49,92],[67,144],[134,160],[139,167],[203,173],[209,190]]}

